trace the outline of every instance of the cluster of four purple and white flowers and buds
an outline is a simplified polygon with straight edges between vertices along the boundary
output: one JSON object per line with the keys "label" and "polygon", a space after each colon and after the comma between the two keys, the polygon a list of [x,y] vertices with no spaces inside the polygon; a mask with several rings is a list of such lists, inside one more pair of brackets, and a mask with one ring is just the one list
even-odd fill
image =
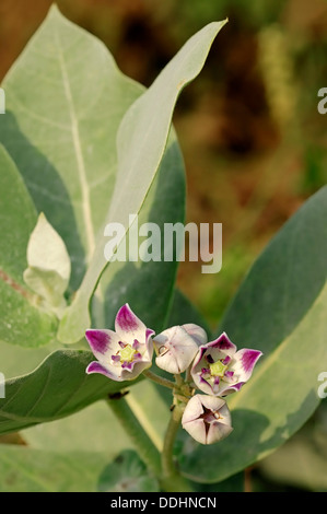
{"label": "cluster of four purple and white flowers and buds", "polygon": [[232,432],[222,397],[241,389],[261,357],[258,350],[237,351],[225,332],[208,342],[206,331],[194,324],[171,327],[154,337],[128,304],[117,313],[115,331],[90,329],[85,337],[97,359],[86,373],[102,373],[118,382],[147,372],[154,350],[157,367],[178,376],[174,397],[185,405],[182,425],[201,444],[221,441]]}

